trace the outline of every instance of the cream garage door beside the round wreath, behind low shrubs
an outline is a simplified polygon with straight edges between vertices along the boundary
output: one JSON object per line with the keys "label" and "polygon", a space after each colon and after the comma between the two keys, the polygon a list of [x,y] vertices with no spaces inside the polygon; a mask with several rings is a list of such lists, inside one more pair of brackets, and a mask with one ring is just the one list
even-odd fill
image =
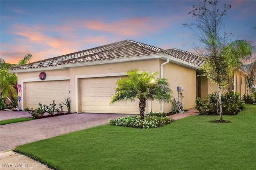
{"label": "cream garage door beside the round wreath, behind low shrubs", "polygon": [[49,105],[52,100],[55,100],[56,107],[58,107],[59,103],[65,103],[65,98],[70,96],[68,90],[70,90],[69,80],[27,82],[24,90],[26,91],[26,106],[24,107],[36,109],[39,102]]}

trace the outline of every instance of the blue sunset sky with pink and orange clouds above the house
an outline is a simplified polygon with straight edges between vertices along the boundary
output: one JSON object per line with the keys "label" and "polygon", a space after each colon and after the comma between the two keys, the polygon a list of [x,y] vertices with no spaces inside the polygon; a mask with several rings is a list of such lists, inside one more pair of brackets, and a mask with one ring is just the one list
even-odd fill
{"label": "blue sunset sky with pink and orange clouds above the house", "polygon": [[[28,53],[30,62],[57,57],[126,39],[163,49],[194,52],[198,42],[182,23],[195,0],[183,1],[36,1],[1,0],[1,57],[18,64]],[[232,40],[256,44],[256,1],[219,1],[231,4],[224,16]]]}

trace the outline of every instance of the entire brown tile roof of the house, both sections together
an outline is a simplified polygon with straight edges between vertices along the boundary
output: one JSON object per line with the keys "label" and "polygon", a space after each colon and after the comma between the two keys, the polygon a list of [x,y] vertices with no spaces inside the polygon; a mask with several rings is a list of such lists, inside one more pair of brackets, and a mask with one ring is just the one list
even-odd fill
{"label": "entire brown tile roof of the house, both sections together", "polygon": [[10,70],[29,70],[33,68],[50,68],[63,64],[86,63],[99,60],[110,60],[124,57],[147,56],[151,54],[166,54],[173,56],[181,61],[186,61],[196,66],[202,66],[203,59],[200,55],[182,51],[179,49],[163,50],[158,47],[138,43],[132,40],[120,41],[100,47],[70,53],[34,63],[11,67]]}

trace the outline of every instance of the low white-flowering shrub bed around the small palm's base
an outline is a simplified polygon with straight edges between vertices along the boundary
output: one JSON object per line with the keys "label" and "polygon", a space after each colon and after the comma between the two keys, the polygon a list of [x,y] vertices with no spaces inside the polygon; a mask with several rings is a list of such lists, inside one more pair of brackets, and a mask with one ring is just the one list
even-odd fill
{"label": "low white-flowering shrub bed around the small palm's base", "polygon": [[117,119],[109,119],[108,124],[145,129],[161,127],[173,121],[171,118],[162,116],[164,114],[166,115],[166,113],[150,112],[145,115],[144,120],[140,120],[140,116],[118,117]]}

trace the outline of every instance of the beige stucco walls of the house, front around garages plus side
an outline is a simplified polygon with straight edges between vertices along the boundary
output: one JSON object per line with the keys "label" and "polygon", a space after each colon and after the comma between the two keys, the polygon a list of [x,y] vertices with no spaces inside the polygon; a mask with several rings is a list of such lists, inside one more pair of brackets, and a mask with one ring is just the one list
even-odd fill
{"label": "beige stucco walls of the house, front around garages plus side", "polygon": [[[70,78],[70,98],[71,98],[71,112],[76,112],[77,107],[80,107],[80,78],[83,76],[98,76],[98,75],[114,75],[118,73],[126,73],[129,70],[137,68],[139,71],[147,70],[150,72],[159,72],[160,65],[165,61],[154,59],[148,61],[132,61],[125,63],[111,63],[111,64],[99,64],[91,66],[77,66],[60,70],[46,70],[47,78]],[[22,80],[33,79],[36,81],[42,81],[38,75],[41,71],[18,73],[18,84],[21,84]],[[160,76],[160,74],[158,74]],[[184,92],[182,93],[182,103],[184,109],[192,108],[195,105],[196,99],[196,71],[184,66],[180,66],[174,63],[168,63],[164,65],[164,77],[167,78],[170,88],[173,90],[174,98],[178,98],[177,86],[182,86]],[[26,82],[26,81],[25,81]],[[78,92],[78,94],[76,94]],[[20,95],[20,94],[18,94]],[[26,93],[24,93],[26,95]],[[23,96],[26,97],[26,96]],[[25,101],[24,101],[25,103]],[[152,111],[160,111],[161,105],[158,102],[151,102]],[[149,110],[151,111],[151,110]],[[164,111],[172,111],[172,104],[164,104]]]}

